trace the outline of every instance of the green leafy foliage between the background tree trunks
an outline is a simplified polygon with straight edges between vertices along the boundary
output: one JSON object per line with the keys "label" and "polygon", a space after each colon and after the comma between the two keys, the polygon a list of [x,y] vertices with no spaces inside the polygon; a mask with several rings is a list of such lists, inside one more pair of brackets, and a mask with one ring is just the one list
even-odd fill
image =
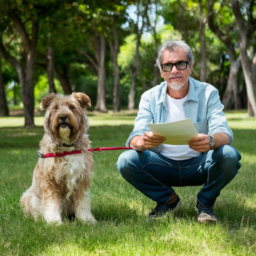
{"label": "green leafy foliage between the background tree trunks", "polygon": [[[136,4],[145,1],[69,1],[69,0],[0,0],[0,33],[3,35],[3,43],[11,56],[20,61],[25,67],[25,47],[21,36],[17,33],[13,22],[8,18],[8,13],[13,10],[19,17],[31,37],[31,18],[36,18],[39,24],[39,37],[37,44],[37,66],[35,67],[35,104],[38,105],[40,97],[47,93],[48,83],[46,82],[46,55],[47,48],[54,49],[54,62],[56,70],[64,71],[70,78],[72,89],[86,91],[92,103],[95,104],[97,97],[97,70],[91,61],[78,53],[84,52],[98,62],[100,57],[97,39],[103,32],[106,37],[106,98],[107,104],[112,104],[113,95],[113,63],[108,40],[113,40],[112,22],[118,27],[119,55],[118,63],[121,71],[120,97],[121,105],[127,105],[127,95],[131,85],[131,69],[134,62],[136,44],[136,22],[132,19],[131,10]],[[195,65],[192,77],[199,79],[201,66],[201,45],[199,37],[200,5],[207,17],[207,1],[185,1],[185,0],[161,0],[151,1],[148,11],[147,24],[141,39],[140,67],[137,76],[136,101],[138,102],[141,93],[147,86],[151,87],[154,75],[154,63],[157,46],[166,39],[178,40],[180,35],[191,46],[195,55]],[[255,12],[255,4],[249,1],[241,3],[243,13],[248,8]],[[226,33],[237,45],[237,28],[234,15],[228,0],[215,1],[214,22]],[[164,19],[163,24],[155,23]],[[253,17],[252,17],[253,18]],[[113,19],[113,20],[112,20]],[[138,23],[140,25],[140,23]],[[157,42],[153,37],[153,28]],[[207,82],[219,89],[220,96],[226,89],[228,73],[230,68],[229,56],[226,46],[211,32],[206,25],[205,30],[207,44]],[[253,37],[253,35],[252,35]],[[254,36],[255,37],[255,36]],[[253,38],[254,38],[253,37]],[[253,44],[253,43],[252,43]],[[157,45],[157,46],[156,46]],[[254,45],[250,45],[254,49]],[[253,54],[254,50],[252,50]],[[237,50],[237,56],[239,51]],[[16,70],[6,63],[3,65],[4,83],[11,81],[18,82]],[[242,72],[239,73],[240,89],[243,84]],[[162,81],[159,78],[159,83]],[[59,90],[56,80],[57,90]],[[7,98],[10,104],[20,103],[20,88],[15,94],[13,88],[7,87]],[[40,89],[38,89],[40,88]],[[14,97],[16,96],[16,99]]]}

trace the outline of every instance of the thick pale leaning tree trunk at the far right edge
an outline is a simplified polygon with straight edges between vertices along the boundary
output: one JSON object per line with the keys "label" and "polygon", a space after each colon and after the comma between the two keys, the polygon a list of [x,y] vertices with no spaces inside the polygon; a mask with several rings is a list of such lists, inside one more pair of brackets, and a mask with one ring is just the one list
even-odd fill
{"label": "thick pale leaning tree trunk at the far right edge", "polygon": [[[252,113],[250,113],[250,111],[249,113],[250,115],[254,116],[256,115],[256,81],[253,80],[255,75],[253,74],[253,66],[250,58],[247,55],[247,50],[250,39],[252,38],[252,35],[255,35],[256,30],[256,19],[253,17],[253,13],[255,14],[255,1],[245,2],[242,8],[240,7],[238,0],[230,0],[230,3],[238,28],[240,59],[246,82],[247,98],[252,108]],[[243,10],[243,12],[246,11],[246,18],[243,17],[240,8]]]}

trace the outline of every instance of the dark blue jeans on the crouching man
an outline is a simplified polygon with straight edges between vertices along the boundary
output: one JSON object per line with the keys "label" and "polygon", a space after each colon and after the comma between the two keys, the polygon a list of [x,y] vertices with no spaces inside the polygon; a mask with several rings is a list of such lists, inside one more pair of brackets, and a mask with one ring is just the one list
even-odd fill
{"label": "dark blue jeans on the crouching man", "polygon": [[240,159],[239,152],[230,145],[182,161],[151,150],[128,150],[119,156],[116,166],[125,180],[158,204],[169,201],[172,187],[204,185],[197,201],[213,206],[221,189],[238,173]]}

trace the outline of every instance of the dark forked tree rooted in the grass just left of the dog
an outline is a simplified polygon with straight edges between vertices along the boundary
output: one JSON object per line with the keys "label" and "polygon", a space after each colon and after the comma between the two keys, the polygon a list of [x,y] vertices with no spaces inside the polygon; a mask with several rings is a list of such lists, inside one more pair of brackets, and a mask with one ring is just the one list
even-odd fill
{"label": "dark forked tree rooted in the grass just left of the dog", "polygon": [[[6,9],[7,17],[10,23],[7,29],[16,29],[22,39],[22,46],[20,47],[19,55],[23,56],[23,49],[25,51],[24,58],[20,60],[14,58],[10,51],[5,48],[3,43],[3,33],[0,34],[0,52],[3,57],[15,67],[19,82],[22,89],[22,99],[24,104],[24,117],[25,126],[33,127],[34,125],[34,81],[33,74],[36,59],[36,47],[38,39],[38,16],[36,13],[29,12],[28,7],[26,10],[19,6],[20,2],[15,6]],[[15,35],[14,32],[11,32]],[[6,38],[7,39],[7,38]],[[25,67],[23,67],[23,60]]]}

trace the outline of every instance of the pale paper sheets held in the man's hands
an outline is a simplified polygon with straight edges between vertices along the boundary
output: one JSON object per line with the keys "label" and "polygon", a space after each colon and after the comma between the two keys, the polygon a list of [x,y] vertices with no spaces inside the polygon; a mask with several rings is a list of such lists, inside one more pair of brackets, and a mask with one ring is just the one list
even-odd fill
{"label": "pale paper sheets held in the man's hands", "polygon": [[163,144],[188,145],[188,141],[197,136],[191,118],[162,124],[148,124],[148,126],[153,134],[166,138]]}

